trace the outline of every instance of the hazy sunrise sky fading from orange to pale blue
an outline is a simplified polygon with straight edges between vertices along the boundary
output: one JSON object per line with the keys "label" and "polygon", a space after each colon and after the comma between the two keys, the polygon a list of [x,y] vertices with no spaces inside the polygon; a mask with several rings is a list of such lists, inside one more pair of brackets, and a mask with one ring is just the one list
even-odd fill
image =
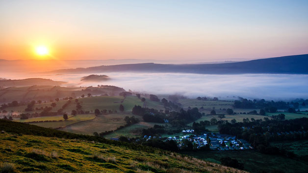
{"label": "hazy sunrise sky fading from orange to pale blue", "polygon": [[308,53],[308,0],[0,0],[0,59],[216,61]]}

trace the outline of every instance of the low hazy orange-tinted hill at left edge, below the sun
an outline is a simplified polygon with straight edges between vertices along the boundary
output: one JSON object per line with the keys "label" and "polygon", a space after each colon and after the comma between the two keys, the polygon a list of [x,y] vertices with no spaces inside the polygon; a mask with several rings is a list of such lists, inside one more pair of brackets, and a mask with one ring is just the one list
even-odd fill
{"label": "low hazy orange-tinted hill at left edge, below the sun", "polygon": [[11,80],[11,79],[0,79],[0,86],[3,87],[12,87],[12,86],[60,86],[65,82],[52,81],[51,79],[42,79],[42,78],[28,78],[20,80]]}

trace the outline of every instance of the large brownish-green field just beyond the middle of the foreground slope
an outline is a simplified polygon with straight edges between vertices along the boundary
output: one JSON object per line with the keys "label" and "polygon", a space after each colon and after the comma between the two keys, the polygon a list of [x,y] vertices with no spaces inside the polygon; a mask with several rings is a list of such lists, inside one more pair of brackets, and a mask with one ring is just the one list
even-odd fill
{"label": "large brownish-green field just beyond the middle of the foreground slope", "polygon": [[[104,132],[109,130],[116,130],[120,126],[124,126],[125,116],[132,116],[131,114],[125,113],[113,113],[108,115],[99,115],[91,121],[84,121],[76,123],[61,129],[63,131],[93,135],[93,132]],[[135,116],[138,117],[138,116]],[[141,120],[141,117],[138,117]]]}

